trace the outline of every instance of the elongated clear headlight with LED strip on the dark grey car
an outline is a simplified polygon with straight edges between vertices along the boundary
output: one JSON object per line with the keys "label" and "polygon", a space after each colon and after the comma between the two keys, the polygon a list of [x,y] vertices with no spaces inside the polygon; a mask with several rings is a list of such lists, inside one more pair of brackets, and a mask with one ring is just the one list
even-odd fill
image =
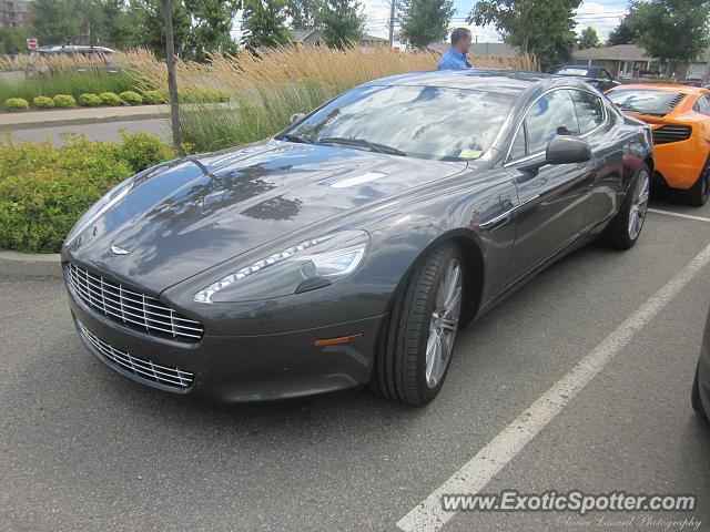
{"label": "elongated clear headlight with LED strip on the dark grey car", "polygon": [[312,238],[212,283],[193,299],[250,301],[313,290],[352,274],[365,257],[368,244],[369,235],[364,231]]}

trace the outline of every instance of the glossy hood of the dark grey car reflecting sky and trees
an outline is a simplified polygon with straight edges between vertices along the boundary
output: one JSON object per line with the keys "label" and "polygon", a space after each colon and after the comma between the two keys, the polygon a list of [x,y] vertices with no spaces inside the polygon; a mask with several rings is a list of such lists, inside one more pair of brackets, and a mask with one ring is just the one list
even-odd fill
{"label": "glossy hood of the dark grey car reflecting sky and trees", "polygon": [[189,157],[139,174],[125,197],[68,243],[64,259],[156,295],[270,241],[466,166],[278,141]]}

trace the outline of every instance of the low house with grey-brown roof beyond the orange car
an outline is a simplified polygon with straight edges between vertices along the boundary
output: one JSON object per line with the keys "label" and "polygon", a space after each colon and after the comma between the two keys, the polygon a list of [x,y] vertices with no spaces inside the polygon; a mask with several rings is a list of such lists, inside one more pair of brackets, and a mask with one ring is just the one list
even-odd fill
{"label": "low house with grey-brown roof beyond the orange car", "polygon": [[590,48],[574,52],[578,64],[596,64],[607,69],[611,75],[620,79],[642,78],[645,75],[665,74],[676,80],[704,79],[710,50],[691,63],[670,63],[660,65],[650,58],[646,50],[636,44],[617,44],[616,47]]}

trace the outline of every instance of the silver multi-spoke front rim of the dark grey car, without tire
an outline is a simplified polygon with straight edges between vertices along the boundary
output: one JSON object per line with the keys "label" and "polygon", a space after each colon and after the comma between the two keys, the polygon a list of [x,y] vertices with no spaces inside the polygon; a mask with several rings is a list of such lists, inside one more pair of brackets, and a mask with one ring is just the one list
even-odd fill
{"label": "silver multi-spoke front rim of the dark grey car, without tire", "polygon": [[460,316],[462,291],[462,266],[454,258],[439,282],[429,323],[426,344],[426,385],[429,388],[436,388],[440,382],[452,358]]}

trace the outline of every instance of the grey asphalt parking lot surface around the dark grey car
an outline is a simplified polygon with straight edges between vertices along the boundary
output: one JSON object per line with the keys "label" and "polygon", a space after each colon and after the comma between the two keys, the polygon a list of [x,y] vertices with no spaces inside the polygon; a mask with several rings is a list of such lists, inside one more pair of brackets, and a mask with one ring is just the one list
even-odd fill
{"label": "grey asphalt parking lot surface around the dark grey car", "polygon": [[[689,396],[710,204],[651,207],[629,252],[588,246],[463,331],[423,409],[367,391],[221,406],[145,389],[84,349],[59,279],[0,273],[0,530],[710,530],[710,426]],[[446,523],[418,507],[453,485],[699,502]]]}

